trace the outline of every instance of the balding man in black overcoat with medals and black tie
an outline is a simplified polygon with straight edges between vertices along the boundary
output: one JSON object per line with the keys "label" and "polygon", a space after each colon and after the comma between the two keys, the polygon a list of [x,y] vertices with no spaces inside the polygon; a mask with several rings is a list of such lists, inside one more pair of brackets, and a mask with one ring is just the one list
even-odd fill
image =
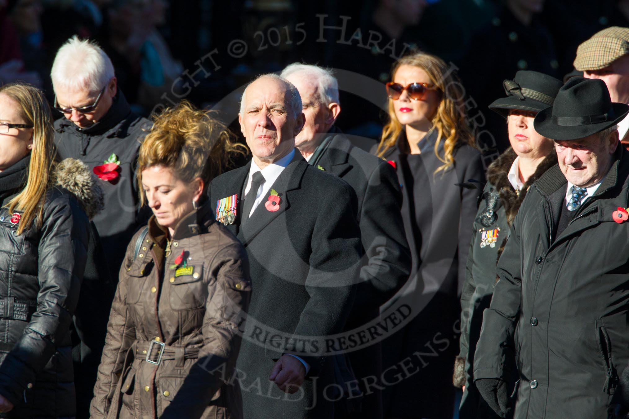
{"label": "balding man in black overcoat with medals and black tie", "polygon": [[250,264],[237,361],[245,418],[331,418],[337,400],[336,351],[327,343],[342,332],[355,294],[357,202],[346,182],[294,148],[301,108],[296,87],[277,75],[249,84],[238,121],[253,158],[208,190],[216,219],[242,241]]}

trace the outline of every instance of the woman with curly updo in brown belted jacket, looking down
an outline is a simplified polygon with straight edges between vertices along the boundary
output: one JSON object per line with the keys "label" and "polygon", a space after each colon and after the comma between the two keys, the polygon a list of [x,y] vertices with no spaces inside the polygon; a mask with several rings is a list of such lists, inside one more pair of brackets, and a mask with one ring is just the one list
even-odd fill
{"label": "woman with curly updo in brown belted jacket, looking down", "polygon": [[251,289],[247,253],[205,199],[236,147],[185,102],[157,117],[140,147],[141,199],[153,216],[120,269],[92,418],[242,417],[234,365]]}

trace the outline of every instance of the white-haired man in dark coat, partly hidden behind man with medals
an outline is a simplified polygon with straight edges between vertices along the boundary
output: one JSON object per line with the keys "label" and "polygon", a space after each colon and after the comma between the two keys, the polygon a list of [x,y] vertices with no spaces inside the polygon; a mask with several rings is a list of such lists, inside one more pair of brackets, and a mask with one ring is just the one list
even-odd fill
{"label": "white-haired man in dark coat, partly hidden behind man with medals", "polygon": [[[349,183],[357,198],[354,215],[360,226],[364,257],[356,302],[345,330],[362,330],[379,318],[379,307],[409,276],[411,256],[400,213],[398,177],[389,163],[353,146],[333,126],[341,108],[338,82],[330,70],[292,63],[284,68],[281,77],[299,90],[306,116],[295,146],[310,165]],[[335,404],[335,417],[381,418],[381,391],[378,386],[369,386],[372,377],[382,374],[381,343],[357,346],[347,355],[363,394],[359,399],[362,406],[357,406],[357,400],[348,394],[349,400]]]}

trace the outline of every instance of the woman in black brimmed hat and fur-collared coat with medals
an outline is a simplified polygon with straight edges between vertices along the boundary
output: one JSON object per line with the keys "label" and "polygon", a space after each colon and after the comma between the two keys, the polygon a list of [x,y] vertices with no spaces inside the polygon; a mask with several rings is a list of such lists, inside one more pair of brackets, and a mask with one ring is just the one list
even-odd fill
{"label": "woman in black brimmed hat and fur-collared coat with medals", "polygon": [[472,383],[474,351],[481,333],[482,312],[489,307],[496,278],[496,263],[528,187],[550,166],[557,164],[552,139],[535,131],[533,119],[552,106],[562,82],[543,73],[519,71],[504,80],[506,97],[489,105],[507,120],[511,147],[487,169],[467,259],[461,295],[460,354],[454,384],[464,387],[459,417],[497,418]]}

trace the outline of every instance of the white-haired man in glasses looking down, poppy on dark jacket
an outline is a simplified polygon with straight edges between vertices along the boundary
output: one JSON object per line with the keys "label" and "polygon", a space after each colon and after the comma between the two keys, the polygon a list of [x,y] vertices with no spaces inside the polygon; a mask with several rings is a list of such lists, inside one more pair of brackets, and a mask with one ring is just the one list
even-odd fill
{"label": "white-haired man in glasses looking down, poppy on dark jacket", "polygon": [[111,60],[91,41],[70,38],[59,48],[50,72],[55,109],[55,144],[61,158],[77,158],[99,177],[105,209],[94,217],[112,273],[126,245],[145,221],[140,215],[135,161],[152,124],[131,112],[118,90]]}

